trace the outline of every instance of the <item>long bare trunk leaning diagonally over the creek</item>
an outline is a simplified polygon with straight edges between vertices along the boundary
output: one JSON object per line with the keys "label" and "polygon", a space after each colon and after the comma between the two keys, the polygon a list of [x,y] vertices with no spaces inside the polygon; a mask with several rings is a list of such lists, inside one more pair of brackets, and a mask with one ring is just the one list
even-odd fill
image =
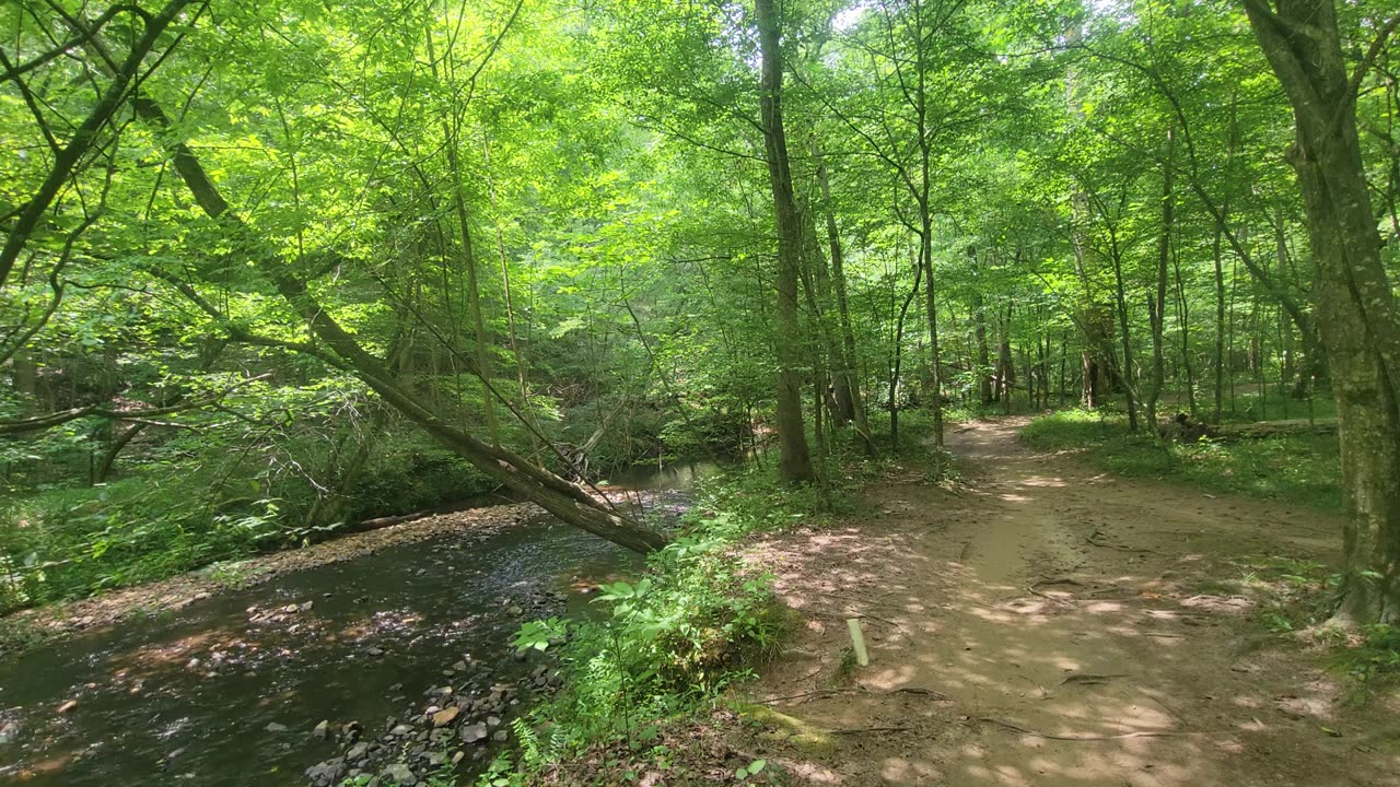
{"label": "long bare trunk leaning diagonally over the creek", "polygon": [[272,281],[283,300],[305,321],[308,329],[325,343],[325,349],[353,370],[385,402],[487,478],[519,493],[561,521],[636,552],[647,553],[666,545],[662,534],[620,515],[594,500],[577,485],[547,469],[532,465],[505,448],[477,440],[421,403],[412,391],[395,379],[379,358],[361,347],[354,336],[336,322],[307,286],[290,273],[287,262],[234,214],[195,153],[174,136],[169,118],[161,106],[143,97],[136,99],[136,111],[165,137],[176,174],[203,211],[230,232],[234,248],[246,255],[255,269]]}

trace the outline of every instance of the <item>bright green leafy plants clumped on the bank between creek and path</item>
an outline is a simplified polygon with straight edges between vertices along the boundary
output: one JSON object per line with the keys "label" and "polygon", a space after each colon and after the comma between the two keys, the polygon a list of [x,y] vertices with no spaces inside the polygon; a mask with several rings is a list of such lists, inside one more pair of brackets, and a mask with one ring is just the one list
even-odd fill
{"label": "bright green leafy plants clumped on the bank between creek and path", "polygon": [[777,522],[725,508],[776,486],[771,473],[752,472],[721,485],[651,557],[643,578],[602,587],[595,604],[606,608],[603,618],[519,629],[515,647],[535,650],[556,647],[567,632],[559,658],[568,681],[550,703],[517,720],[518,762],[501,759],[480,784],[518,784],[592,745],[624,739],[645,748],[659,721],[715,700],[776,651],[783,615],[771,577],[745,571],[734,546]]}

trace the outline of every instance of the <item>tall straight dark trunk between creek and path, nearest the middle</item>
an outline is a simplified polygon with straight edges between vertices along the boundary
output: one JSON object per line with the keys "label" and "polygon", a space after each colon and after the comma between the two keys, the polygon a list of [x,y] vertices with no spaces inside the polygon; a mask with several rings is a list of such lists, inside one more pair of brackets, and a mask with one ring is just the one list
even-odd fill
{"label": "tall straight dark trunk between creek and path, nearest the middle", "polygon": [[778,232],[777,276],[777,427],[778,472],[788,483],[816,480],[812,455],[806,447],[802,426],[801,322],[797,314],[798,274],[802,266],[802,224],[792,196],[792,174],[788,171],[787,134],[783,130],[783,49],[781,28],[774,0],[756,0],[759,21],[759,49],[762,53],[763,143],[769,162],[769,183],[773,189],[773,216]]}

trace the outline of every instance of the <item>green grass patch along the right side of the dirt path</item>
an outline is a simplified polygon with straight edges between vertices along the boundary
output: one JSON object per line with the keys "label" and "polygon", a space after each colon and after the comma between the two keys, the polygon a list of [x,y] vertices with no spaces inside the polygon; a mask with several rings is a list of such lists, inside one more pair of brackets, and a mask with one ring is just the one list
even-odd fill
{"label": "green grass patch along the right side of the dirt path", "polygon": [[1336,436],[1161,443],[1128,433],[1121,415],[1061,410],[1030,422],[1021,440],[1039,450],[1079,451],[1092,465],[1128,478],[1173,480],[1207,492],[1341,511]]}

